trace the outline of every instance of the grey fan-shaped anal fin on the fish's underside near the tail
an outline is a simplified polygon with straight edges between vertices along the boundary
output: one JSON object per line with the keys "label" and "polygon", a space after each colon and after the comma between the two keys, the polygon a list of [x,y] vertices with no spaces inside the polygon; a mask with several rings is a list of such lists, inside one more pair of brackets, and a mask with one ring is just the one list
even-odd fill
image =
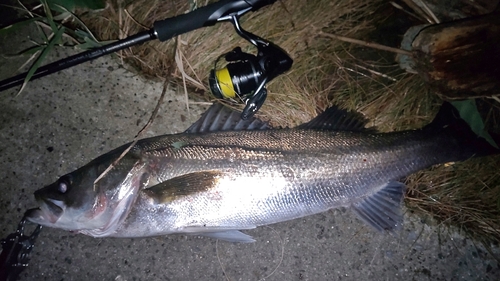
{"label": "grey fan-shaped anal fin on the fish's underside near the tail", "polygon": [[405,185],[389,182],[378,192],[352,204],[352,209],[363,221],[379,231],[393,231],[401,227],[401,202]]}

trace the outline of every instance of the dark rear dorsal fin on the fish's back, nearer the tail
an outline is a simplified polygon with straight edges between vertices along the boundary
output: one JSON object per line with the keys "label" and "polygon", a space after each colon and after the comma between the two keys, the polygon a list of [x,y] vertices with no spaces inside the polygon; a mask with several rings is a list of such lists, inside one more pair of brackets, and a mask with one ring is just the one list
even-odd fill
{"label": "dark rear dorsal fin on the fish's back, nearer the tail", "polygon": [[365,128],[367,123],[368,120],[361,114],[333,106],[311,121],[299,125],[297,128],[330,131],[366,131],[370,130]]}

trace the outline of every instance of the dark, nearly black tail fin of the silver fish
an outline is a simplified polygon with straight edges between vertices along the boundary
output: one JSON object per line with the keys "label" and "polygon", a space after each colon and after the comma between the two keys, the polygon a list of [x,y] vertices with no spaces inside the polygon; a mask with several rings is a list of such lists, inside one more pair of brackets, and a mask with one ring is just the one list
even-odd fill
{"label": "dark, nearly black tail fin of the silver fish", "polygon": [[431,124],[424,127],[429,133],[445,133],[458,143],[457,160],[500,153],[500,134],[488,132],[491,139],[476,134],[469,124],[460,117],[458,110],[449,102],[444,102]]}

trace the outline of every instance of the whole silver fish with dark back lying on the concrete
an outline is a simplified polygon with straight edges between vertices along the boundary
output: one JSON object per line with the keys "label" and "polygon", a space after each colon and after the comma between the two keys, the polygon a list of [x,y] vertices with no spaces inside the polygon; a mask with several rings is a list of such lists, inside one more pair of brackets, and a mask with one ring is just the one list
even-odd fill
{"label": "whole silver fish with dark back lying on the concrete", "polygon": [[366,124],[331,107],[297,127],[272,128],[215,103],[183,133],[137,141],[106,173],[130,144],[37,190],[39,207],[26,217],[93,237],[248,243],[255,240],[242,230],[345,207],[394,232],[403,223],[401,179],[500,152],[449,103],[421,129],[381,133]]}

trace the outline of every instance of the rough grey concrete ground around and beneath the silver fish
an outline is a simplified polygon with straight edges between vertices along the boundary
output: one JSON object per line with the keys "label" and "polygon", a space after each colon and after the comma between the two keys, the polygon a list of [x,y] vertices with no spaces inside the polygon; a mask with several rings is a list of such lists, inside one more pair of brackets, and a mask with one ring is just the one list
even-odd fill
{"label": "rough grey concrete ground around and beneath the silver fish", "polygon": [[[27,45],[33,31],[0,38],[0,54]],[[68,50],[59,51],[62,58]],[[0,79],[22,58],[0,58]],[[0,238],[16,229],[33,192],[129,142],[148,120],[162,84],[105,57],[0,92]],[[182,132],[207,106],[171,90],[146,136]],[[394,236],[376,233],[349,210],[245,231],[232,244],[171,235],[95,239],[44,228],[20,280],[499,280],[481,245],[407,214]]]}

